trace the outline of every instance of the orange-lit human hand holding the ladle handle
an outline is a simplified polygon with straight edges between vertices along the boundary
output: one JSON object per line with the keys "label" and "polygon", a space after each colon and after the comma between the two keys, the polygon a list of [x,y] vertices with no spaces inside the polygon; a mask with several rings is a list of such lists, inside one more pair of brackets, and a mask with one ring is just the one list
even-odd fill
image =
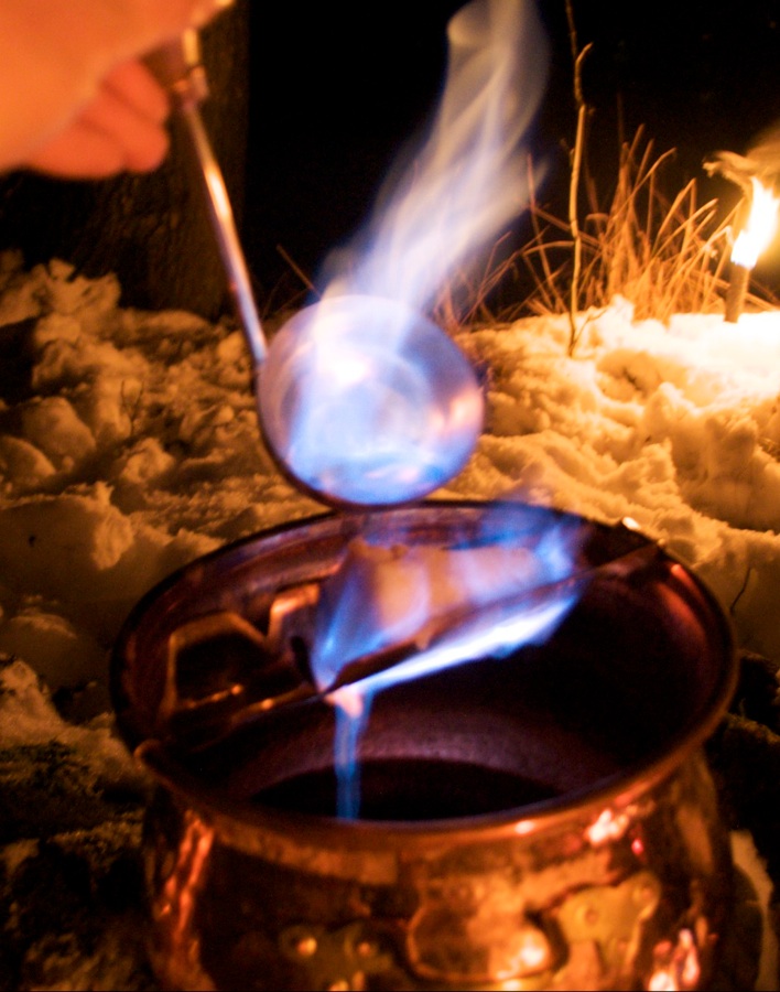
{"label": "orange-lit human hand holding the ladle handle", "polygon": [[0,0],[0,171],[156,168],[169,98],[140,58],[231,2]]}

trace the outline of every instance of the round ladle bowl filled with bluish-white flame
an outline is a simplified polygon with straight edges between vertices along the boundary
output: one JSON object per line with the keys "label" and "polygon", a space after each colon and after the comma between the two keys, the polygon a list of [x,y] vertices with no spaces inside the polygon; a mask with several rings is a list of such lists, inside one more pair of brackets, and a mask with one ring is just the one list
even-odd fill
{"label": "round ladle bowl filled with bluish-white flame", "polygon": [[402,303],[338,296],[300,311],[261,370],[263,430],[310,488],[358,505],[433,492],[483,430],[472,366]]}

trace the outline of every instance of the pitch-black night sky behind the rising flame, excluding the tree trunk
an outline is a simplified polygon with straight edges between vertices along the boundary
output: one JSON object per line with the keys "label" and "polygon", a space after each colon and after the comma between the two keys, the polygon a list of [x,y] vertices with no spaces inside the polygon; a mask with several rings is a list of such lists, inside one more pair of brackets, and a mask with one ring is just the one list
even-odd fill
{"label": "pitch-black night sky behind the rising flame, excluding the tree trunk", "polygon": [[[310,276],[348,237],[393,155],[434,107],[445,68],[445,30],[461,2],[396,0],[252,10],[252,148],[246,244],[266,288],[282,278],[283,248]],[[767,0],[603,3],[574,0],[592,106],[588,165],[608,191],[620,137],[644,127],[680,186],[730,203],[736,188],[711,182],[702,160],[745,151],[780,119],[780,3]],[[557,213],[567,195],[574,139],[571,43],[564,0],[541,0],[552,48],[550,82],[533,139],[550,163],[541,197]],[[672,188],[671,194],[676,192]],[[519,222],[520,238],[527,230]],[[771,278],[771,267],[767,273]]]}

